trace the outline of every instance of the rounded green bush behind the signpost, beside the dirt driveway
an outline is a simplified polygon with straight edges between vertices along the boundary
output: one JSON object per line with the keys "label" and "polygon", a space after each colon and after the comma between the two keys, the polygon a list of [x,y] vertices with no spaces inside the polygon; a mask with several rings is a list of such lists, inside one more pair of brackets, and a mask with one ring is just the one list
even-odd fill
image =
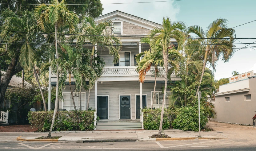
{"label": "rounded green bush behind the signpost, beside the dirt driveway", "polygon": [[[174,129],[198,131],[198,106],[186,106],[176,111],[176,119],[172,121]],[[201,129],[208,122],[207,112],[203,107],[200,108],[200,126]]]}

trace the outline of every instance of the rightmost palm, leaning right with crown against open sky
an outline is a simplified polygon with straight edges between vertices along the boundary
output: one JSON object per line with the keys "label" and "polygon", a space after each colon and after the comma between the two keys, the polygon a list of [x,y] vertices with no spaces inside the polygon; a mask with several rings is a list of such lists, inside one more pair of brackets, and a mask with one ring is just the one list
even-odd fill
{"label": "rightmost palm, leaning right with crown against open sky", "polygon": [[[210,63],[210,67],[215,71],[216,61],[222,55],[222,60],[228,62],[234,53],[233,42],[235,38],[235,30],[228,28],[227,20],[218,18],[213,21],[204,32],[199,25],[190,26],[187,29],[187,33],[194,33],[200,39],[200,43],[203,47],[202,52],[204,56],[203,70],[199,80],[198,88],[195,96],[198,95],[199,87],[204,75],[206,62]],[[228,37],[229,39],[222,39]]]}

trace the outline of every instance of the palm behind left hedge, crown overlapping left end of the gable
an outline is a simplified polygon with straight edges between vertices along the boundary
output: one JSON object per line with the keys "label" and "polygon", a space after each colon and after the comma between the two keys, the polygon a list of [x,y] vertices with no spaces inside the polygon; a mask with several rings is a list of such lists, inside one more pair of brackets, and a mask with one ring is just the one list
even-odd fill
{"label": "palm behind left hedge, crown overlapping left end of the gable", "polygon": [[[92,66],[93,56],[95,53],[96,45],[106,45],[106,48],[109,49],[109,54],[114,56],[113,64],[116,64],[119,60],[119,51],[122,47],[122,42],[120,38],[114,37],[113,33],[113,23],[110,20],[96,23],[92,17],[85,17],[85,20],[82,22],[81,27],[76,30],[75,33],[81,34],[76,36],[70,36],[70,41],[73,41],[77,38],[77,45],[84,45],[85,43],[92,44],[90,66]],[[101,35],[101,36],[90,36],[90,35]],[[116,45],[114,45],[114,43]],[[82,47],[82,46],[81,46]],[[99,77],[98,77],[99,78]],[[88,87],[88,101],[86,110],[89,108],[90,101],[90,91],[92,85],[89,84]]]}

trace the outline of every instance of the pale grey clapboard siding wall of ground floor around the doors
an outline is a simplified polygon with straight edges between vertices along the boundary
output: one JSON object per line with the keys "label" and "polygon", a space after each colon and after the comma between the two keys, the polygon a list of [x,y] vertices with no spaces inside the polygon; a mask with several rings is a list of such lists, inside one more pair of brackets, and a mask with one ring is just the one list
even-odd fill
{"label": "pale grey clapboard siding wall of ground floor around the doors", "polygon": [[[119,82],[103,82],[98,83],[98,95],[109,95],[109,120],[119,120],[119,95],[131,95],[131,110],[132,119],[135,117],[135,94],[140,94],[140,86],[138,81],[119,81]],[[156,91],[162,87],[162,84],[157,83]],[[72,85],[72,89],[75,88]],[[154,91],[154,83],[143,83],[142,84],[142,94],[147,94],[147,105],[151,107],[151,91]],[[66,87],[63,92],[70,92]],[[85,90],[82,90],[85,92]],[[95,93],[94,88],[90,95],[89,107],[95,108]],[[88,99],[88,91],[86,91],[86,103]],[[167,100],[168,102],[168,100]],[[160,105],[161,106],[161,105]],[[61,102],[59,105],[61,109]]]}

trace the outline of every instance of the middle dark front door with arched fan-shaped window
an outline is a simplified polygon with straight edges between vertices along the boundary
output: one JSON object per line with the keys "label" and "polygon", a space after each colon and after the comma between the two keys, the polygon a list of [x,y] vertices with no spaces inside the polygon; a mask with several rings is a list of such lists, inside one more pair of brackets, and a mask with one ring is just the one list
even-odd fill
{"label": "middle dark front door with arched fan-shaped window", "polygon": [[120,119],[131,118],[131,96],[120,96]]}

